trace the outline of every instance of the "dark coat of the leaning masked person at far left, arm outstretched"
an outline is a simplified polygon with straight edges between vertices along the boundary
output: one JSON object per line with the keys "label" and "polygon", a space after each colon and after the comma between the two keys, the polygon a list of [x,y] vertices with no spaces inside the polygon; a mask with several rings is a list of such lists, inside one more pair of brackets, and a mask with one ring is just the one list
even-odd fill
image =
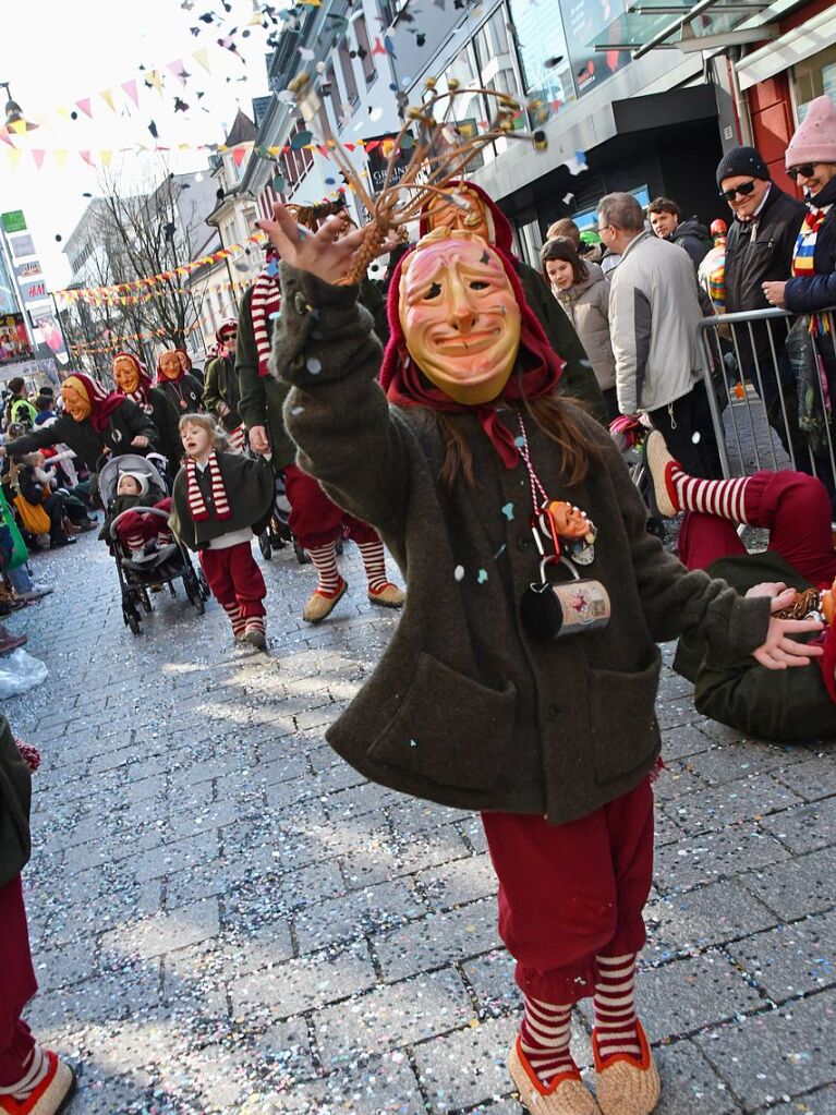
{"label": "dark coat of the leaning masked person at far left, arm outstretched", "polygon": [[140,455],[147,453],[148,449],[137,449],[130,445],[135,437],[147,437],[149,449],[157,447],[157,430],[148,415],[132,399],[125,399],[121,406],[110,414],[103,430],[97,430],[89,418],[76,421],[68,414],[64,414],[51,425],[42,426],[9,442],[6,449],[10,455],[20,455],[62,442],[91,472],[95,472],[106,449],[109,450],[111,458],[119,457],[123,453]]}

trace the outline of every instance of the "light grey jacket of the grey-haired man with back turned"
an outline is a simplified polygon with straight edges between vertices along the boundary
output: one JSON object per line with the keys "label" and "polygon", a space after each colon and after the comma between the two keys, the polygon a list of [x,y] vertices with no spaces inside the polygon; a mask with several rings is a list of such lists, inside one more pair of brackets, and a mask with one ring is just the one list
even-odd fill
{"label": "light grey jacket of the grey-haired man with back turned", "polygon": [[701,320],[688,255],[649,232],[631,241],[610,280],[610,338],[622,414],[657,410],[693,390],[706,362],[697,330]]}

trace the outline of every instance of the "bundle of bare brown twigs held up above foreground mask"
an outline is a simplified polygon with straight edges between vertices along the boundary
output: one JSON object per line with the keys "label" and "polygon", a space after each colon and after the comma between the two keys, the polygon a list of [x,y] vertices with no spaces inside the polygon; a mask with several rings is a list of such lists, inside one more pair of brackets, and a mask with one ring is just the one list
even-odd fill
{"label": "bundle of bare brown twigs held up above foreground mask", "polygon": [[[329,154],[370,214],[369,223],[363,225],[363,246],[350,271],[340,280],[341,283],[359,282],[389,234],[395,232],[405,239],[405,226],[418,219],[421,209],[432,196],[441,195],[466,209],[467,202],[458,200],[455,192],[448,192],[445,186],[451,178],[460,177],[465,167],[488,144],[508,138],[531,142],[537,151],[544,151],[547,145],[543,132],[515,130],[514,120],[522,112],[522,106],[508,94],[473,87],[463,89],[454,78],[448,78],[446,93],[435,93],[432,78],[427,80],[426,88],[432,95],[421,106],[407,110],[407,119],[392,140],[383,185],[373,195],[352,165],[346,148],[333,138],[319,93],[308,74],[300,74],[290,84],[290,90],[294,94],[308,126],[319,130]],[[465,138],[454,123],[454,106],[458,97],[473,94],[480,94],[495,101],[496,114],[484,132]],[[447,105],[440,112],[443,101],[447,101]],[[534,101],[528,105],[528,109],[537,118],[542,106]],[[412,127],[417,129],[417,138],[411,134]],[[404,151],[411,151],[411,155],[406,171],[396,182],[395,168]]]}

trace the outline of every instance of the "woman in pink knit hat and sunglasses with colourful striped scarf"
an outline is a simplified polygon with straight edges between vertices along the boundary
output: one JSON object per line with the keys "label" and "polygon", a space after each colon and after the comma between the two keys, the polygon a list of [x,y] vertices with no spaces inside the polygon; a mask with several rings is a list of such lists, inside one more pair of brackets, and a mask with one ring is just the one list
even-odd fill
{"label": "woman in pink knit hat and sunglasses with colourful striped scarf", "polygon": [[[836,104],[830,97],[810,101],[804,123],[789,140],[787,174],[804,190],[807,216],[793,254],[793,278],[764,283],[772,306],[810,316],[810,333],[822,359],[830,399],[836,399]],[[833,418],[829,419],[833,437]],[[834,477],[836,482],[836,477]]]}

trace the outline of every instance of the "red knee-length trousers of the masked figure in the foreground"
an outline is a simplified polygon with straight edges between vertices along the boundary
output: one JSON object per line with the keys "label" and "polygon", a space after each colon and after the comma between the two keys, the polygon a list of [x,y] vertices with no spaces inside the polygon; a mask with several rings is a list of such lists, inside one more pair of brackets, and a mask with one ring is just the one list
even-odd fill
{"label": "red knee-length trousers of the masked figure in the foreground", "polygon": [[516,981],[544,1002],[595,988],[596,956],[639,952],[653,873],[650,778],[580,821],[483,813],[499,879],[499,935]]}

